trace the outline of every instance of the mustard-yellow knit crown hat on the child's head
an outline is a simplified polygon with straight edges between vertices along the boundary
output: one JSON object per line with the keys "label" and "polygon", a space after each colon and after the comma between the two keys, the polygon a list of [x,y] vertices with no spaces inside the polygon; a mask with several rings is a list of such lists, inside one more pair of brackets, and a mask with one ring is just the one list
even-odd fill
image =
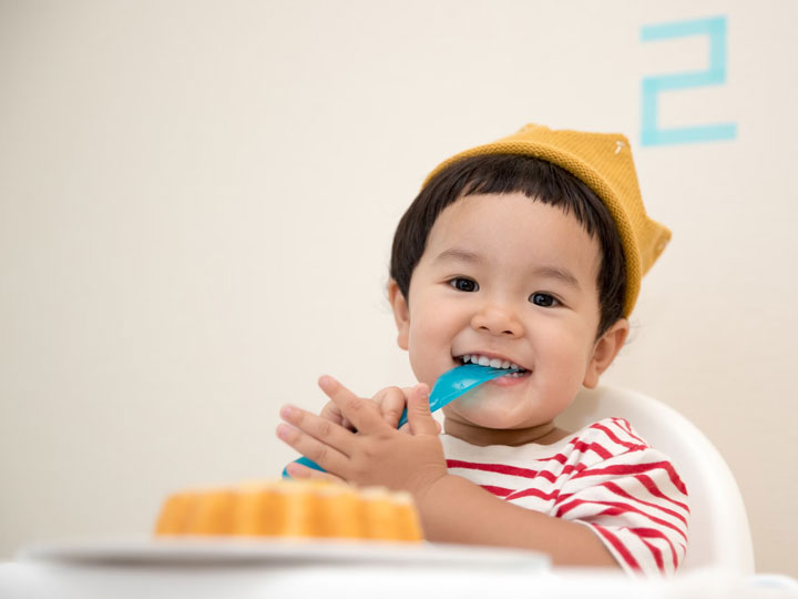
{"label": "mustard-yellow knit crown hat on the child's head", "polygon": [[623,315],[628,316],[637,301],[641,280],[671,240],[671,231],[652,221],[643,206],[637,174],[628,140],[618,133],[553,131],[529,124],[518,133],[487,145],[466,150],[439,164],[423,186],[453,163],[485,154],[521,154],[562,166],[604,202],[615,221],[626,260],[626,298]]}

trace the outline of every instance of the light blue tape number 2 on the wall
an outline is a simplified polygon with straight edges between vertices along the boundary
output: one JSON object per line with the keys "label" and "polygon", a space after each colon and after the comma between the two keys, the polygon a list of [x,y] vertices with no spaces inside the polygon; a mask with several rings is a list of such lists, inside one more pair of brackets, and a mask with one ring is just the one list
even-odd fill
{"label": "light blue tape number 2 on the wall", "polygon": [[697,21],[681,21],[646,26],[641,41],[666,40],[688,35],[709,37],[709,68],[706,71],[674,73],[643,79],[642,144],[665,145],[704,141],[733,140],[737,136],[735,123],[659,129],[657,108],[659,93],[667,90],[686,90],[726,82],[726,17]]}

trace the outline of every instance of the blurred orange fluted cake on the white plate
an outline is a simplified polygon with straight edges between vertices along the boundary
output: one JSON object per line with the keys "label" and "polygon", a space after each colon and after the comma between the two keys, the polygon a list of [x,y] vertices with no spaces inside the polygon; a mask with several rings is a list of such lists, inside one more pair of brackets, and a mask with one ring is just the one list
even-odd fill
{"label": "blurred orange fluted cake on the white plate", "polygon": [[175,494],[161,509],[155,535],[422,539],[406,493],[296,479]]}

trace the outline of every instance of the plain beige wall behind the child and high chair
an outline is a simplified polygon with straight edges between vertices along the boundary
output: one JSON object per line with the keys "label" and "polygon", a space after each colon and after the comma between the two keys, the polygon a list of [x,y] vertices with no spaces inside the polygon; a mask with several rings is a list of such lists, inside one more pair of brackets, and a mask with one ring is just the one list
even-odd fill
{"label": "plain beige wall behind the child and high chair", "polygon": [[[641,146],[664,124],[734,141]],[[411,380],[383,284],[427,170],[529,121],[626,132],[674,241],[607,380],[716,443],[758,569],[798,576],[798,38],[791,2],[0,3],[0,558],[146,535],[161,499],[276,476],[277,407],[321,373]],[[790,41],[791,40],[791,41]]]}

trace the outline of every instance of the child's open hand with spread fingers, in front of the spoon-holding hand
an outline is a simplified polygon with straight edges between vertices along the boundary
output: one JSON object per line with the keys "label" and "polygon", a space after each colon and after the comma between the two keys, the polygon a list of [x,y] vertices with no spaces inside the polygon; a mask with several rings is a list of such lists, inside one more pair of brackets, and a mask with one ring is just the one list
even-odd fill
{"label": "child's open hand with spread fingers, in front of the spoon-holding hand", "polygon": [[[319,385],[340,410],[341,424],[285,406],[280,415],[293,426],[280,425],[277,435],[327,473],[357,485],[380,485],[416,496],[447,475],[426,385],[408,394],[410,434],[396,430],[383,419],[380,406],[357,397],[331,377],[321,377]],[[344,418],[357,434],[342,426]]]}

